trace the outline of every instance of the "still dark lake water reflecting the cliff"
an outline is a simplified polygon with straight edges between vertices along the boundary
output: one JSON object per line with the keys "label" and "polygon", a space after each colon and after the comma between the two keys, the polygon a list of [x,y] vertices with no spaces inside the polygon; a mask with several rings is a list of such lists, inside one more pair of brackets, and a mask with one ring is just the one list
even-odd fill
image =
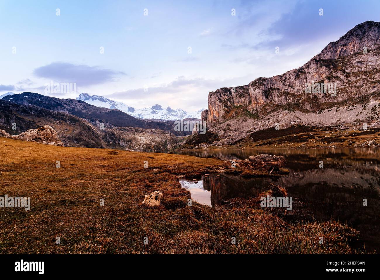
{"label": "still dark lake water reflecting the cliff", "polygon": [[[233,197],[257,196],[271,183],[281,185],[293,197],[292,222],[328,221],[331,218],[360,231],[355,248],[380,252],[380,149],[266,149],[177,151],[198,157],[246,159],[257,154],[285,156],[289,175],[280,178],[242,178],[211,174],[199,181],[180,179],[193,200],[211,207]],[[323,161],[323,168],[320,168]],[[367,199],[367,206],[363,206]]]}

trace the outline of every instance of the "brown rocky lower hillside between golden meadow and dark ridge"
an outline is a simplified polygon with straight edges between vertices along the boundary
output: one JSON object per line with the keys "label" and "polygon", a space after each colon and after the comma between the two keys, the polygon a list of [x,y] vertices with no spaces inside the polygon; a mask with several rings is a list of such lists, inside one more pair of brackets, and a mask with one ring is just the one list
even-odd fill
{"label": "brown rocky lower hillside between golden meadow and dark ridge", "polygon": [[141,151],[165,150],[179,141],[172,133],[159,129],[100,129],[74,115],[6,100],[0,100],[0,136],[51,145]]}

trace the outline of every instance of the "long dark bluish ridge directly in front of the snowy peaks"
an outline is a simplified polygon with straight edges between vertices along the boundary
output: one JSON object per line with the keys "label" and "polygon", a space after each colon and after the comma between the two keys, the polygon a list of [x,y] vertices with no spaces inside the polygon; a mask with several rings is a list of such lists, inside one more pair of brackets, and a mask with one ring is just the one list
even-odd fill
{"label": "long dark bluish ridge directly in front of the snowy peaks", "polygon": [[8,95],[3,98],[21,105],[35,105],[48,110],[62,112],[77,116],[90,122],[93,126],[100,126],[103,122],[105,127],[139,127],[144,129],[161,129],[177,136],[191,134],[174,130],[174,122],[155,121],[135,118],[118,109],[108,109],[90,105],[82,100],[59,99],[45,96],[34,92],[23,92],[21,94]]}

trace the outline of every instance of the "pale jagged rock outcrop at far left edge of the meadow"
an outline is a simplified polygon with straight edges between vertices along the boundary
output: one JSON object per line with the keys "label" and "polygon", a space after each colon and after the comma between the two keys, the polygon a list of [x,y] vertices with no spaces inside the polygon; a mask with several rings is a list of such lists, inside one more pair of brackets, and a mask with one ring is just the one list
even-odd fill
{"label": "pale jagged rock outcrop at far left edge of the meadow", "polygon": [[64,146],[59,140],[57,132],[51,126],[43,126],[37,129],[29,129],[19,135],[10,136],[13,139],[33,141],[54,146]]}

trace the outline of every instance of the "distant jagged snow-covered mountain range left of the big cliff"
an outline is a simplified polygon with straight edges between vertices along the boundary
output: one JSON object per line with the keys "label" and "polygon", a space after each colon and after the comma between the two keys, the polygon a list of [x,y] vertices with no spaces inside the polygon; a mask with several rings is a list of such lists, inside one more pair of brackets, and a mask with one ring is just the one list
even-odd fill
{"label": "distant jagged snow-covered mountain range left of the big cliff", "polygon": [[185,118],[201,118],[201,112],[204,110],[198,110],[193,113],[187,113],[182,109],[172,109],[170,107],[163,108],[161,105],[153,105],[148,108],[135,109],[123,102],[114,101],[108,98],[105,98],[100,95],[89,95],[87,93],[81,93],[76,98],[77,100],[82,100],[86,103],[97,107],[109,108],[109,109],[119,109],[128,115],[134,116],[140,119],[164,119],[164,120],[177,120]]}

